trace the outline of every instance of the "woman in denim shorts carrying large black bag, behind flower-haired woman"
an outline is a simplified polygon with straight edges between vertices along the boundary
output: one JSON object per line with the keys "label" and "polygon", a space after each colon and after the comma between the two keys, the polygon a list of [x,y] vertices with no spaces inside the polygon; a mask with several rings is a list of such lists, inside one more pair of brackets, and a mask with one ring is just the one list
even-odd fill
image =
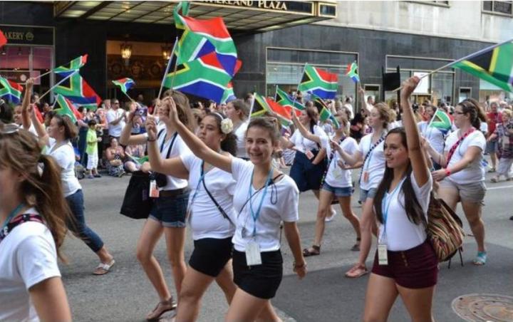
{"label": "woman in denim shorts carrying large black bag, behind flower-haired woman", "polygon": [[[171,95],[178,105],[178,115],[180,120],[187,125],[190,130],[195,129],[195,119],[192,115],[189,105],[189,99],[184,94],[167,90],[165,96]],[[149,138],[147,133],[130,135],[134,113],[128,115],[128,122],[121,132],[120,143],[122,145],[138,145],[146,142],[157,142],[160,155],[165,158],[178,157],[190,153],[189,148],[182,140],[182,137],[176,132],[175,126],[170,122],[169,111],[165,106],[157,105],[157,113],[160,124],[157,129],[157,137]],[[141,166],[142,172],[151,172],[149,162]],[[170,175],[161,175],[165,177],[164,182],[159,187],[159,195],[153,199],[153,206],[150,216],[146,220],[137,245],[136,256],[144,269],[148,279],[152,282],[155,291],[160,298],[157,306],[147,314],[148,320],[157,320],[163,313],[176,308],[176,302],[173,299],[164,274],[153,256],[153,250],[157,241],[165,235],[167,257],[170,260],[175,281],[175,289],[180,294],[182,281],[185,276],[187,266],[185,265],[185,226],[187,213],[187,200],[189,199],[189,189],[187,180],[172,177]],[[159,180],[160,181],[160,180]]]}

